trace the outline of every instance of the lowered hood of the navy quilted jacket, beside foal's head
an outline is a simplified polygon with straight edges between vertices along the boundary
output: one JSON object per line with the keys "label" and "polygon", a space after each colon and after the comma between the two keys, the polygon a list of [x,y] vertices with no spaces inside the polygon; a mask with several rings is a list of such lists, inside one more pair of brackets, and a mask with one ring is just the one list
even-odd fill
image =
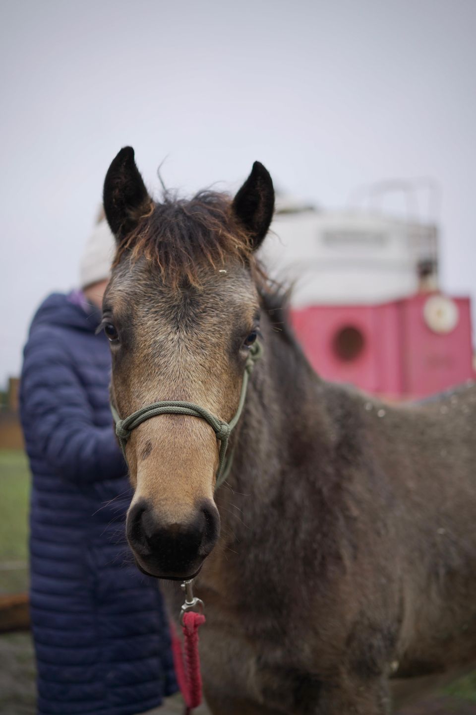
{"label": "lowered hood of the navy quilted jacket, beside foal's head", "polygon": [[52,293],[41,303],[31,322],[32,330],[37,325],[58,325],[75,330],[94,332],[101,322],[101,311],[93,305],[82,305],[74,301],[74,293]]}

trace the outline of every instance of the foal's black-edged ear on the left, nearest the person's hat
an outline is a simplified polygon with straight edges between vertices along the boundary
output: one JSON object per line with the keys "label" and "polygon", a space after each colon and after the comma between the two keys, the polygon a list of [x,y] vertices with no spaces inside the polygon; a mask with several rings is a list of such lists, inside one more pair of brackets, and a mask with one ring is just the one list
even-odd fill
{"label": "foal's black-edged ear on the left, nearest the person's hat", "polygon": [[150,212],[152,203],[134,161],[134,149],[124,147],[112,160],[103,191],[104,213],[118,242]]}

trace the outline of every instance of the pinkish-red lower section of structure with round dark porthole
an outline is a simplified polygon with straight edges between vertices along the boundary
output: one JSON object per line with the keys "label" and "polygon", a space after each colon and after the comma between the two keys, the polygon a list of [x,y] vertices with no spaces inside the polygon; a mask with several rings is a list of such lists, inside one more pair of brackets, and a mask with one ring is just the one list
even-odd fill
{"label": "pinkish-red lower section of structure with round dark porthole", "polygon": [[292,311],[319,375],[389,398],[425,397],[474,378],[470,300],[420,293],[377,305]]}

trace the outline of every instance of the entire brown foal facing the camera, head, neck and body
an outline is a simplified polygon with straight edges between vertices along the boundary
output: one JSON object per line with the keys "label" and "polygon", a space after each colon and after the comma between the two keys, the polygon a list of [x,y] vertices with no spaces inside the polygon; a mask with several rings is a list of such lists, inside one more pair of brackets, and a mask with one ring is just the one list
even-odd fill
{"label": "entire brown foal facing the camera, head, neck and body", "polygon": [[229,423],[264,347],[216,492],[227,425],[167,413],[119,430],[129,544],[146,573],[197,576],[214,715],[384,715],[390,676],[476,659],[476,388],[390,407],[320,380],[254,257],[273,205],[257,162],[232,201],[154,202],[130,148],[109,168],[118,415],[173,401]]}

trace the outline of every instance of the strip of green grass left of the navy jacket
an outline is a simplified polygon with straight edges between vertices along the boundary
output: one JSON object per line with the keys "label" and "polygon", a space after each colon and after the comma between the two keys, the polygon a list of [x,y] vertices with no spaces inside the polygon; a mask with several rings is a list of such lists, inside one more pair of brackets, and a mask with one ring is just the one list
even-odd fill
{"label": "strip of green grass left of the navy jacket", "polygon": [[[0,593],[25,591],[30,473],[21,450],[0,450]],[[4,565],[4,568],[2,568]]]}

